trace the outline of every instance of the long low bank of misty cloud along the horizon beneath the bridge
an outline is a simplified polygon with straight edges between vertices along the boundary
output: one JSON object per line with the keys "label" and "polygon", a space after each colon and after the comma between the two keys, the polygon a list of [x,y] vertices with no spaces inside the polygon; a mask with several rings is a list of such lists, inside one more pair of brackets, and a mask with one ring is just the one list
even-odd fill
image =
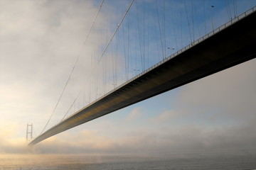
{"label": "long low bank of misty cloud along the horizon beneath the bridge", "polygon": [[[250,131],[249,131],[250,129]],[[247,134],[245,133],[247,131]],[[256,137],[247,127],[203,130],[186,127],[164,132],[130,132],[125,137],[111,139],[94,132],[72,136],[72,141],[53,137],[34,146],[39,153],[171,153],[171,152],[243,152],[255,150]]]}

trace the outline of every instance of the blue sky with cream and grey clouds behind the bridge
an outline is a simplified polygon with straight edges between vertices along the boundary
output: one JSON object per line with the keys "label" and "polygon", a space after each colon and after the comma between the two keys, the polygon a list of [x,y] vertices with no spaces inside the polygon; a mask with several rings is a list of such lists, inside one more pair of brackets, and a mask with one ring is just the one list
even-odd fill
{"label": "blue sky with cream and grey clouds behind the bridge", "polygon": [[[181,5],[181,1],[158,2],[160,18],[163,18],[166,2],[166,8],[171,6],[174,11],[166,10],[166,16],[176,16],[180,23],[173,26],[171,23],[176,22],[173,19],[166,23],[160,20],[158,24],[153,17],[156,16],[155,1],[136,1],[127,15],[129,20],[124,20],[117,38],[110,43],[101,60],[100,52],[129,1],[105,1],[85,43],[100,1],[0,0],[0,153],[255,152],[255,59],[27,147],[27,123],[33,123],[34,135],[43,130],[77,57],[80,58],[74,78],[70,79],[47,128],[63,118],[81,88],[90,89],[90,95],[82,94],[68,115],[88,100],[92,102],[97,95],[122,84],[123,80],[114,74],[109,75],[111,79],[105,77],[99,81],[102,72],[119,72],[123,77],[132,78],[162,57],[171,55],[167,47],[179,50],[210,32],[212,26],[217,28],[225,23],[224,18],[228,20],[256,5],[252,0],[236,1],[237,11],[232,11],[233,1],[225,1],[230,3],[229,12],[223,1],[203,1],[208,8],[198,7],[202,1],[186,1],[186,6]],[[214,5],[214,9],[210,5]],[[188,8],[188,16],[175,11],[178,8]],[[206,20],[200,15],[197,18],[195,12],[195,18],[187,22],[192,9],[197,13],[206,11]],[[213,10],[212,16],[210,10]],[[143,11],[147,11],[146,14],[143,15]],[[133,20],[136,13],[139,13],[138,22]],[[183,20],[177,17],[179,15]],[[190,25],[193,19],[195,27]],[[139,25],[142,23],[144,25]],[[160,40],[161,33],[165,33],[161,32],[164,24],[167,36]],[[160,34],[149,32],[149,26],[159,29]],[[142,42],[145,47],[139,48]],[[117,52],[112,53],[113,50]],[[98,60],[103,69],[92,74],[88,81],[92,85],[83,85]],[[104,82],[104,88],[97,87]]]}

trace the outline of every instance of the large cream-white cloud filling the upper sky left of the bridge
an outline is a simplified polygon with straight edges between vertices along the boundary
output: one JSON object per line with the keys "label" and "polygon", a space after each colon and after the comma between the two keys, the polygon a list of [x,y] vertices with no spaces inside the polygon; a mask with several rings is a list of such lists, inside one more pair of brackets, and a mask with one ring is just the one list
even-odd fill
{"label": "large cream-white cloud filling the upper sky left of the bridge", "polygon": [[[3,0],[0,3],[0,113],[6,121],[17,120],[24,125],[33,121],[41,128],[53,112],[98,6],[93,1]],[[75,76],[70,79],[48,127],[63,118],[85,86],[88,76],[84,73],[90,74],[92,52],[103,44],[98,31],[108,22],[108,17],[102,13],[97,17],[90,34],[94,42],[89,39],[82,49]],[[90,82],[94,87],[94,82]],[[72,113],[94,97],[88,96],[79,98]]]}

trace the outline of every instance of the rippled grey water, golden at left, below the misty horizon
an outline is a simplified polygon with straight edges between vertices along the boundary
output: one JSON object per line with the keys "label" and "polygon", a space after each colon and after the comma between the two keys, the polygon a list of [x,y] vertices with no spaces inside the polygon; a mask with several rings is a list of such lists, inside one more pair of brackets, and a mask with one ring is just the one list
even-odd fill
{"label": "rippled grey water, golden at left, below the misty horizon", "polygon": [[0,169],[256,169],[256,154],[1,154]]}

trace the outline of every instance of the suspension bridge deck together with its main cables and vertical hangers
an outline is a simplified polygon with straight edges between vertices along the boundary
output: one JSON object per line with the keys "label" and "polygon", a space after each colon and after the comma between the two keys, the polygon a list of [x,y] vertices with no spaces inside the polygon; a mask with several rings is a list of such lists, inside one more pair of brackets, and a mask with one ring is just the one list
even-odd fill
{"label": "suspension bridge deck together with its main cables and vertical hangers", "polygon": [[[132,22],[129,22],[129,20],[127,20],[127,23],[124,23],[127,17],[133,17],[133,14],[129,14],[131,13],[131,11],[129,10],[131,10],[133,4],[136,5],[136,7],[134,7],[135,13],[139,13],[139,7],[137,7],[139,6],[139,4],[136,3],[136,1],[131,1],[129,3],[128,8],[124,10],[124,15],[122,15],[119,22],[117,22],[117,27],[115,29],[112,29],[112,34],[107,35],[107,40],[105,41],[105,44],[100,45],[101,52],[98,52],[99,54],[97,55],[98,57],[96,60],[91,60],[91,63],[93,64],[91,64],[91,71],[87,78],[83,79],[82,83],[80,81],[74,80],[76,83],[82,85],[78,86],[77,84],[75,84],[76,87],[80,88],[76,88],[79,90],[77,91],[77,93],[75,93],[72,100],[70,101],[70,107],[68,107],[67,109],[68,111],[64,111],[64,117],[61,118],[61,120],[58,123],[55,123],[55,125],[53,125],[51,128],[43,132],[46,129],[45,127],[41,134],[38,135],[38,137],[36,137],[34,140],[32,140],[28,145],[36,145],[38,142],[46,140],[48,137],[56,135],[70,128],[74,128],[75,126],[81,125],[82,123],[86,123],[95,118],[100,118],[103,115],[112,113],[121,108],[130,106],[134,103],[138,103],[139,101],[143,101],[147,98],[151,98],[158,94],[164,93],[165,91],[169,91],[179,86],[183,86],[184,84],[188,84],[192,81],[196,81],[203,77],[207,77],[208,75],[220,72],[223,69],[228,69],[229,67],[233,67],[242,62],[252,60],[256,57],[256,7],[250,8],[250,10],[240,14],[239,16],[236,15],[233,18],[231,18],[230,11],[228,11],[228,16],[230,16],[229,21],[217,28],[213,28],[213,18],[211,18],[212,21],[210,22],[209,26],[209,33],[207,33],[204,36],[201,36],[200,30],[198,29],[198,33],[196,34],[196,28],[189,24],[190,22],[193,22],[188,21],[188,15],[186,15],[189,12],[187,10],[188,4],[184,2],[185,4],[183,6],[185,6],[186,13],[181,13],[181,17],[182,15],[184,15],[184,18],[186,18],[185,22],[188,22],[188,34],[186,39],[190,39],[190,41],[188,41],[188,45],[182,45],[185,44],[182,41],[182,35],[184,37],[186,35],[182,33],[182,29],[184,28],[182,28],[181,23],[181,45],[179,47],[180,49],[178,50],[178,38],[173,36],[172,40],[176,42],[176,45],[174,43],[174,46],[176,46],[176,52],[168,56],[166,54],[166,41],[168,41],[166,40],[166,37],[168,37],[169,35],[166,35],[166,28],[167,26],[169,26],[169,24],[167,24],[168,22],[166,21],[165,18],[166,11],[164,10],[163,12],[162,18],[164,19],[162,21],[159,20],[159,16],[161,16],[161,14],[158,11],[161,7],[165,8],[166,4],[163,3],[163,6],[160,6],[156,2],[156,12],[158,13],[158,20],[156,20],[158,22],[156,23],[158,23],[158,26],[162,26],[162,28],[159,27],[159,39],[161,40],[159,43],[160,45],[158,46],[159,48],[162,47],[162,50],[160,50],[159,52],[162,53],[162,58],[159,57],[160,62],[153,62],[153,60],[152,62],[147,62],[147,65],[149,65],[149,63],[156,64],[152,64],[151,67],[146,68],[146,60],[150,60],[149,43],[151,40],[156,40],[156,37],[149,37],[149,24],[147,25],[147,23],[143,23],[143,25],[139,28],[139,15],[134,15],[137,16],[138,21],[137,33],[139,36],[137,41],[131,40],[133,37],[132,33],[128,32],[129,30],[125,31],[127,27],[132,28],[132,24],[134,24]],[[96,17],[87,34],[87,38],[90,32],[92,31],[92,28],[94,27],[95,20],[100,9],[102,8],[102,4],[103,1],[100,4]],[[145,4],[143,5],[145,6]],[[192,4],[192,14],[196,15],[196,12],[193,11],[193,8],[194,7]],[[146,14],[143,13],[142,15],[142,21],[144,22],[146,20]],[[147,17],[150,18],[150,14],[148,14]],[[194,19],[193,17],[196,18],[196,16],[192,16],[192,19]],[[170,23],[172,23],[172,21],[170,21]],[[147,28],[144,28],[146,26]],[[119,33],[119,29],[121,29],[121,33],[123,33],[123,47],[118,46],[120,44],[118,42],[118,38],[116,38],[115,42],[113,42],[114,36],[120,36],[118,34],[121,34]],[[178,32],[178,29],[175,27],[171,30],[172,33]],[[140,32],[143,32],[143,35]],[[205,31],[202,32],[206,32],[206,25]],[[196,37],[198,37],[197,40],[195,40]],[[87,38],[85,41],[87,41]],[[147,40],[148,42],[144,42],[145,40]],[[138,43],[135,43],[135,46],[132,46],[132,43],[134,42]],[[147,46],[146,43],[148,43]],[[120,71],[117,67],[117,58],[113,57],[118,56],[121,53],[118,52],[117,47],[119,47],[119,51],[124,52],[123,56],[125,64],[123,67],[123,71]],[[168,47],[168,49],[172,50],[175,48]],[[136,51],[139,51],[140,55],[138,55]],[[72,72],[70,73],[70,77],[68,77],[68,81],[65,84],[63,93],[60,95],[60,98],[55,106],[53,113],[55,113],[55,110],[57,110],[58,106],[60,105],[61,98],[65,96],[65,90],[68,84],[70,84],[71,77],[75,72],[75,68],[78,67],[78,61],[81,60],[80,57],[82,56],[81,54],[82,50],[80,52],[80,55],[78,55]],[[109,55],[110,61],[112,61],[112,64],[108,65],[108,67],[106,66],[108,64],[108,60],[102,59],[105,55]],[[132,62],[132,58],[129,59],[129,56],[134,55],[140,56],[140,61],[142,63],[140,66],[142,72],[136,74],[135,76],[132,74],[132,72],[130,72],[130,70],[133,69],[133,66],[132,64],[129,64]],[[148,57],[146,57],[146,55]],[[157,52],[151,52],[151,55],[153,58],[157,58],[158,56]],[[92,62],[93,60],[95,62]],[[138,64],[137,60],[135,60],[135,65],[136,64]],[[99,70],[101,71],[96,71],[97,68],[99,68]],[[108,69],[110,69],[109,72],[112,74],[107,75]],[[139,72],[139,69],[133,69],[133,71]],[[80,69],[78,69],[78,72],[80,72]],[[97,72],[97,74],[93,76],[93,73],[95,72]],[[120,81],[117,78],[117,74],[123,74],[124,81]],[[92,81],[92,79],[95,79],[95,81]],[[89,85],[85,85],[84,81],[89,82]],[[86,89],[85,86],[90,87],[88,88],[89,92],[84,92]],[[95,89],[92,89],[91,86],[95,86]],[[100,90],[100,88],[102,89]],[[92,91],[95,91],[95,98],[92,98]],[[103,95],[99,95],[99,92]],[[81,97],[82,93],[84,93],[84,96],[89,96],[89,100],[93,101],[87,102],[84,96]],[[100,97],[97,97],[98,95]],[[78,98],[83,98],[84,103],[87,104],[85,104],[85,106],[78,106],[78,110],[72,112],[71,108],[74,108],[75,102],[78,102]],[[53,113],[50,115],[50,118],[53,116]],[[70,113],[70,115],[68,115],[68,113]],[[50,119],[48,120],[48,123],[49,121]],[[48,125],[48,123],[46,123],[46,126]]]}

